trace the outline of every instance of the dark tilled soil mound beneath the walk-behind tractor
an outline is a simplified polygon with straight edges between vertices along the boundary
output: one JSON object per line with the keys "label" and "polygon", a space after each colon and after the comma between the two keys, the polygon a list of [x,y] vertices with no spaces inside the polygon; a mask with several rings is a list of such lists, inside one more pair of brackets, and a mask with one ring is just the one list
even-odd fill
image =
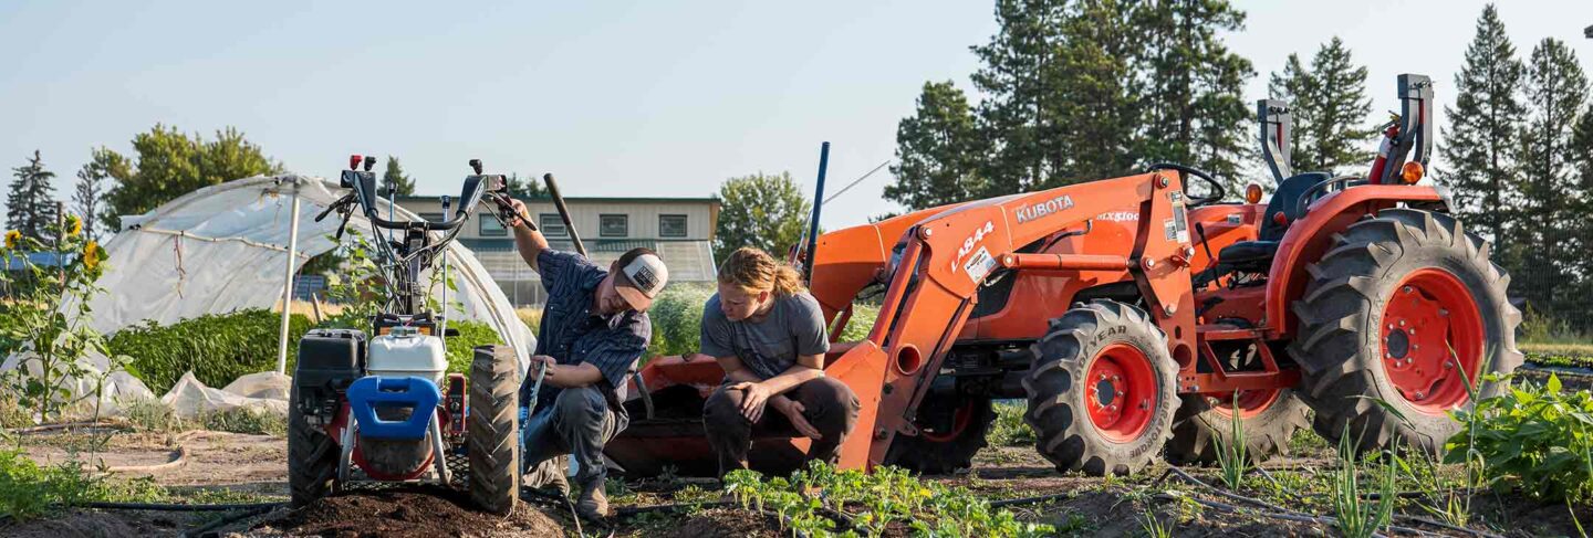
{"label": "dark tilled soil mound beneath the walk-behind tractor", "polygon": [[280,511],[250,535],[263,536],[564,536],[530,505],[508,516],[475,511],[454,490],[355,492]]}

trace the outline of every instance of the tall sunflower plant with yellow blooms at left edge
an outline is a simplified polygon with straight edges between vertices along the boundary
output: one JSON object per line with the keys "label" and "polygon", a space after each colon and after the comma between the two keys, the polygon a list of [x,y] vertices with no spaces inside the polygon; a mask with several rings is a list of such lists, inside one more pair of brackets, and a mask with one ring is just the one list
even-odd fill
{"label": "tall sunflower plant with yellow blooms at left edge", "polygon": [[[94,282],[105,271],[105,248],[83,236],[83,220],[68,216],[46,231],[56,240],[45,244],[18,231],[5,234],[0,248],[8,269],[22,267],[21,275],[0,271],[0,285],[11,291],[5,302],[0,334],[11,350],[25,353],[27,361],[6,374],[6,387],[40,420],[54,420],[73,398],[99,396],[105,379],[119,369],[121,358],[105,347],[105,336],[94,329],[89,299],[105,290]],[[35,255],[54,255],[54,264],[35,261]],[[83,366],[89,353],[112,358],[105,371]],[[94,380],[94,393],[73,393],[73,382]]]}

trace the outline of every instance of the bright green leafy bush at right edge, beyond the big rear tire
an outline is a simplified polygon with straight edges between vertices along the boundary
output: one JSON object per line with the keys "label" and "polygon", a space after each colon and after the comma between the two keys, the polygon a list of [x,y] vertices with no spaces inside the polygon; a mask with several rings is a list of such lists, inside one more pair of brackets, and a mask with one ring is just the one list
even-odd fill
{"label": "bright green leafy bush at right edge, beyond the big rear tire", "polygon": [[[1504,395],[1456,411],[1462,428],[1445,442],[1445,462],[1469,454],[1483,460],[1489,481],[1518,484],[1542,500],[1593,497],[1593,393],[1563,393],[1560,377],[1544,387],[1515,384]],[[1472,450],[1467,450],[1470,444]]]}

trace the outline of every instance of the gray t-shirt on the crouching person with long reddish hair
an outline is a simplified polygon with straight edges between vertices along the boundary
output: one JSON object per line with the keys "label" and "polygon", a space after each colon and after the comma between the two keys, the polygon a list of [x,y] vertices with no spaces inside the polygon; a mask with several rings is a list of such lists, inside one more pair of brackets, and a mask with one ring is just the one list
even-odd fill
{"label": "gray t-shirt on the crouching person with long reddish hair", "polygon": [[811,294],[796,293],[774,299],[763,322],[731,322],[718,309],[715,293],[703,306],[703,353],[741,358],[753,374],[769,379],[784,374],[796,357],[824,355],[830,336],[824,326],[824,310]]}

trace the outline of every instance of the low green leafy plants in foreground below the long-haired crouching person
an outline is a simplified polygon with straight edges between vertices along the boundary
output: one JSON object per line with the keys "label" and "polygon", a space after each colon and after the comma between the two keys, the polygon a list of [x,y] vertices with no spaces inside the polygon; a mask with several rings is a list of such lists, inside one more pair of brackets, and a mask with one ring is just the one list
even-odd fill
{"label": "low green leafy plants in foreground below the long-haired crouching person", "polygon": [[800,536],[835,536],[835,516],[863,536],[879,536],[887,528],[905,527],[918,536],[1047,536],[1055,528],[1018,522],[1007,509],[967,489],[924,482],[905,470],[875,468],[836,471],[824,462],[787,478],[765,481],[753,471],[725,476],[725,493],[742,508],[773,511],[781,530]]}

